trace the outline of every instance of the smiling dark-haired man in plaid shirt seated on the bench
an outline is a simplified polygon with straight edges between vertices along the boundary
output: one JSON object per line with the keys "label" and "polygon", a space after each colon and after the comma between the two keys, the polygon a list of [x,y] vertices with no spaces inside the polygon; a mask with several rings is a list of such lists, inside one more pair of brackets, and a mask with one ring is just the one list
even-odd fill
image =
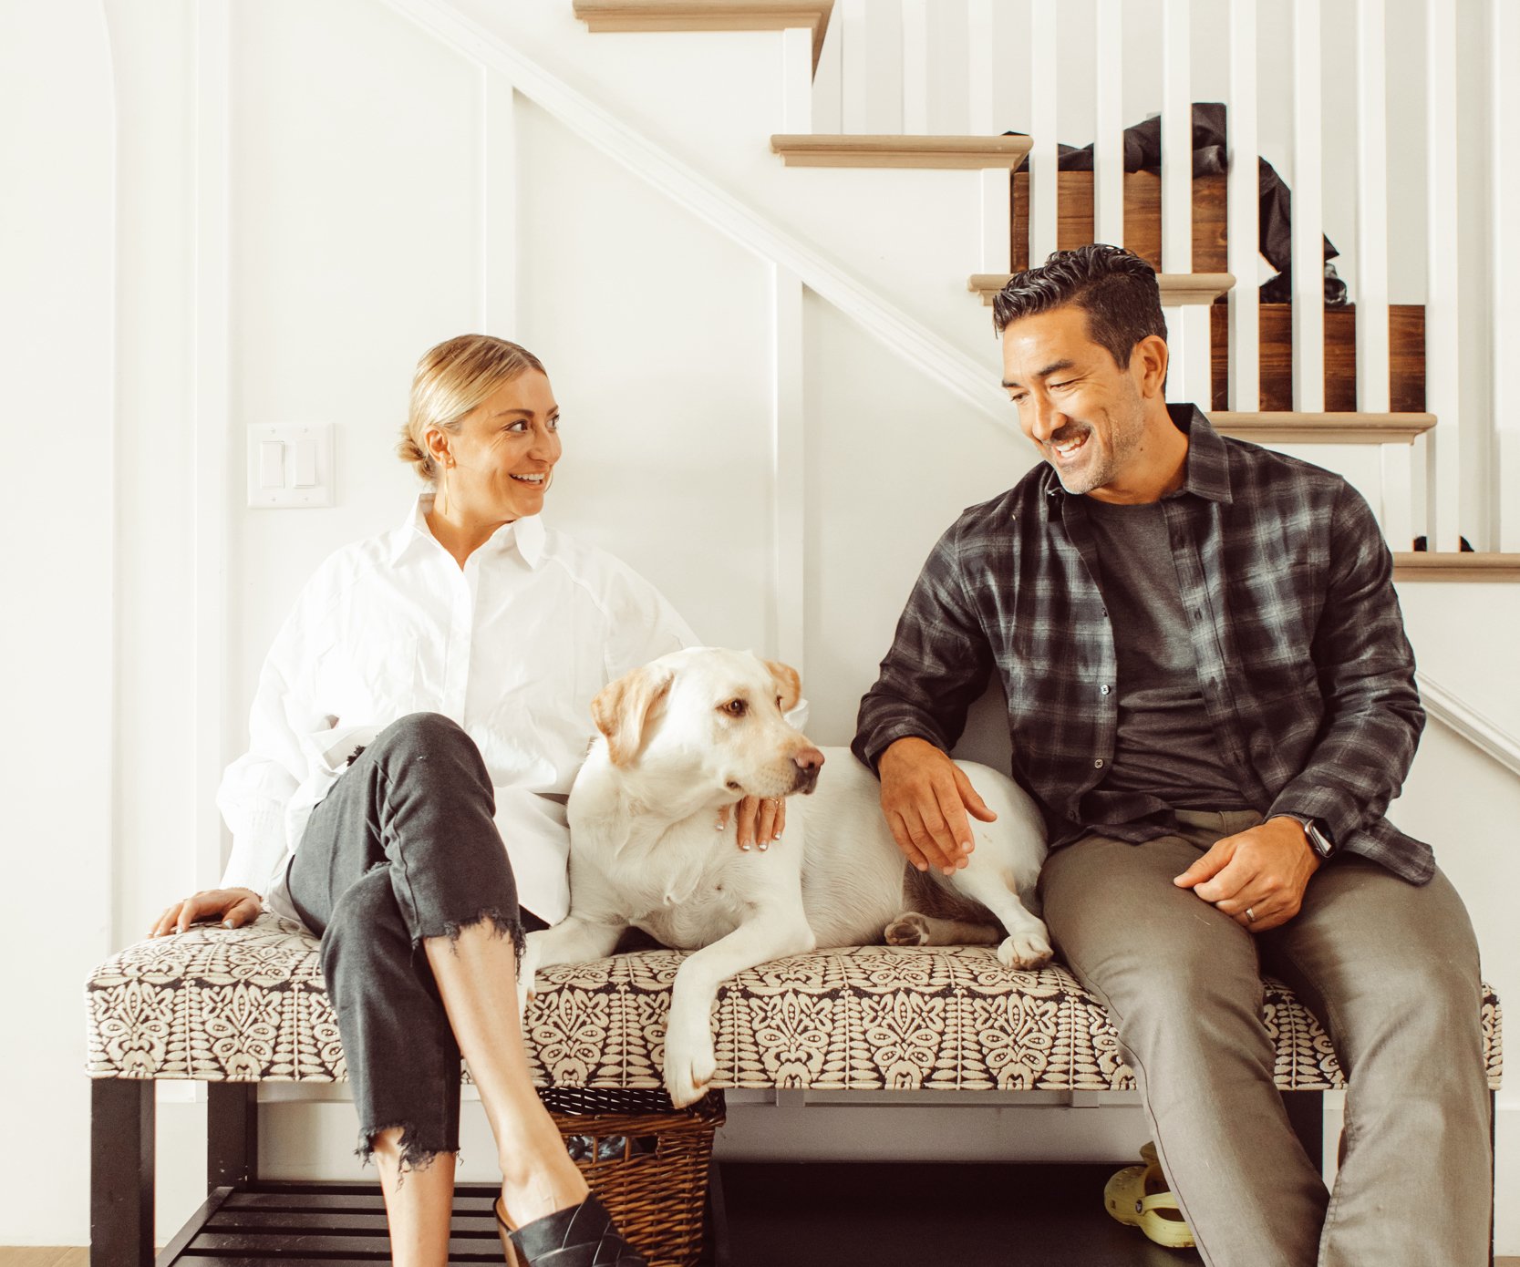
{"label": "smiling dark-haired man in plaid shirt seated on the bench", "polygon": [[[1164,403],[1160,292],[1126,251],[1018,273],[994,324],[1044,463],[939,539],[860,703],[898,845],[965,864],[991,816],[945,754],[996,671],[1050,828],[1044,918],[1204,1261],[1487,1262],[1477,948],[1383,817],[1424,714],[1366,503]],[[1274,1086],[1263,965],[1350,1080],[1333,1196]]]}

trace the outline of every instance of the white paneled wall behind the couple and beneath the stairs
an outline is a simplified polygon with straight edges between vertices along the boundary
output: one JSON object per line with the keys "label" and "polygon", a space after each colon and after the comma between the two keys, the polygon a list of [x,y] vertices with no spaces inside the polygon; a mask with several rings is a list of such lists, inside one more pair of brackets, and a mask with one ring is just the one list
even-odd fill
{"label": "white paneled wall behind the couple and beneath the stairs", "polygon": [[[462,8],[996,381],[986,311],[959,289],[976,242],[974,178],[783,169],[766,147],[783,118],[783,36],[588,36],[567,3]],[[0,9],[0,118],[30,125],[0,140],[5,170],[26,173],[0,188],[0,213],[6,242],[35,243],[6,248],[6,293],[23,302],[8,308],[0,346],[8,381],[23,384],[8,398],[15,433],[46,436],[67,462],[68,500],[59,513],[58,482],[36,480],[6,501],[11,538],[46,542],[47,555],[17,551],[8,573],[12,594],[35,596],[36,618],[6,623],[6,662],[24,668],[6,700],[26,738],[3,769],[29,870],[12,890],[27,899],[8,899],[0,936],[12,962],[38,965],[8,981],[14,1006],[46,1019],[35,1042],[6,1054],[3,1120],[44,1141],[44,1156],[6,1150],[0,1243],[87,1237],[79,981],[164,902],[216,878],[214,773],[243,743],[277,623],[319,558],[391,527],[415,491],[391,445],[426,346],[483,328],[544,357],[565,412],[550,515],[629,559],[704,637],[771,650],[778,596],[795,589],[821,741],[850,737],[935,536],[1031,462],[1006,424],[813,293],[806,365],[778,371],[769,260],[382,0],[79,0],[43,12]],[[515,199],[503,199],[514,181]],[[775,400],[778,377],[795,372],[800,574],[772,548]],[[62,421],[55,383],[67,383]],[[246,427],[263,422],[334,424],[333,507],[242,506]],[[1359,483],[1373,479],[1351,454],[1335,460]],[[225,548],[208,558],[217,541]],[[1406,596],[1423,667],[1499,700],[1496,720],[1520,731],[1502,626],[1474,615],[1508,600],[1508,589]],[[1471,665],[1509,685],[1494,690]],[[1429,825],[1442,858],[1461,842],[1453,877],[1491,978],[1515,995],[1497,895],[1520,878],[1503,839],[1520,782],[1432,731],[1400,814]],[[994,717],[973,743],[996,754]],[[67,904],[55,907],[61,889]],[[58,953],[40,956],[44,943]],[[354,1173],[347,1104],[275,1097],[269,1173]],[[167,1231],[202,1196],[204,1109],[172,1091],[161,1100]],[[1508,1121],[1515,1101],[1505,1104]],[[749,1112],[765,1111],[736,1106],[736,1123]],[[847,1121],[856,1147],[886,1147],[882,1118]],[[977,1129],[986,1147],[1012,1152],[1038,1130]],[[1134,1117],[1084,1130],[1079,1147],[1123,1155]],[[1503,1130],[1508,1174],[1520,1132]],[[464,1173],[485,1177],[491,1150],[474,1106],[465,1142]],[[1520,1249],[1520,1226],[1502,1223],[1503,1244]]]}

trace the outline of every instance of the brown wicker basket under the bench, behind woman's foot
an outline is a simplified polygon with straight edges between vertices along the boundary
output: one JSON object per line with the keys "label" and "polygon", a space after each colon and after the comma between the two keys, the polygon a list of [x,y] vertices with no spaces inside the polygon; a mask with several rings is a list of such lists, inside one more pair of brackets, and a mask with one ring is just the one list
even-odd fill
{"label": "brown wicker basket under the bench, behind woman's foot", "polygon": [[695,1267],[724,1095],[675,1109],[664,1091],[538,1092],[587,1183],[649,1267]]}

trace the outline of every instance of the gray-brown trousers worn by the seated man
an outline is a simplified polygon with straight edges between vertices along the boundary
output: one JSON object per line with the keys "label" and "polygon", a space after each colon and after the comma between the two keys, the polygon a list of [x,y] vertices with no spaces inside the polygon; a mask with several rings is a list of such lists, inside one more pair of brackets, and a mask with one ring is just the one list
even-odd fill
{"label": "gray-brown trousers worn by the seated man", "polygon": [[[1157,1152],[1211,1267],[1488,1262],[1488,1089],[1477,943],[1441,874],[1414,886],[1357,857],[1251,934],[1172,878],[1249,811],[1180,811],[1145,845],[1090,834],[1040,880],[1044,918],[1108,1007]],[[1327,1193],[1272,1077],[1262,971],[1321,1019],[1347,1076]]]}

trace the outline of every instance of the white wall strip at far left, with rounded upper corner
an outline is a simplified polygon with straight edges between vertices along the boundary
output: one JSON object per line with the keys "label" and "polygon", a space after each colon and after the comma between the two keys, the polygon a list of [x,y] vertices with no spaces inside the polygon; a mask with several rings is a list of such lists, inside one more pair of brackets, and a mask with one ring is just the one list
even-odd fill
{"label": "white wall strip at far left, with rounded upper corner", "polygon": [[0,5],[3,1244],[84,1241],[81,983],[116,943],[111,73],[99,6]]}

